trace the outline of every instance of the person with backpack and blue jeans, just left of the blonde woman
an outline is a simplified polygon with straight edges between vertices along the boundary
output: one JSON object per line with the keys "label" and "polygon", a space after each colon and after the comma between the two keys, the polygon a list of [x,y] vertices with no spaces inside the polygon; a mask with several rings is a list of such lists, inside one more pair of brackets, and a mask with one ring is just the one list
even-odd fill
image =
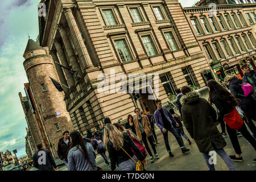
{"label": "person with backpack and blue jeans, just left of the blonde woman", "polygon": [[97,150],[98,154],[100,154],[102,156],[102,158],[105,160],[105,166],[110,167],[111,164],[109,163],[108,158],[105,154],[106,147],[103,143],[103,139],[102,139],[101,135],[98,134],[97,132],[94,134],[92,146],[93,146],[94,150]]}

